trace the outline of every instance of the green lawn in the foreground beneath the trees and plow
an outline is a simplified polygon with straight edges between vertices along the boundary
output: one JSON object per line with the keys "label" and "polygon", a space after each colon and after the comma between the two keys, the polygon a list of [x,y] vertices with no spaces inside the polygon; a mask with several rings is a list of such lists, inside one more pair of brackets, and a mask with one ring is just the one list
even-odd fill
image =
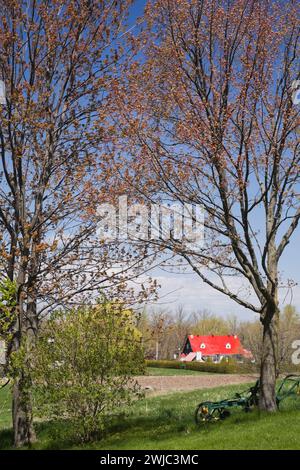
{"label": "green lawn in the foreground beneath the trees and plow", "polygon": [[[76,445],[68,441],[71,423],[38,423],[35,449],[300,449],[300,398],[289,399],[276,414],[233,410],[225,421],[197,428],[196,404],[219,400],[245,385],[174,393],[136,403],[126,419],[119,419],[98,442]],[[0,449],[9,448],[11,431],[8,390],[0,392]]]}

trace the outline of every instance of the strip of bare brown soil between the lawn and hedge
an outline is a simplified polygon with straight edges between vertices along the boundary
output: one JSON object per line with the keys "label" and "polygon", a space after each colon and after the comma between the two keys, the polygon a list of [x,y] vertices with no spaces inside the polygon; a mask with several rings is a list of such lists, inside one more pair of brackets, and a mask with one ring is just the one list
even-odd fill
{"label": "strip of bare brown soil between the lawn and hedge", "polygon": [[137,377],[143,389],[151,394],[160,395],[168,392],[189,391],[201,388],[213,388],[223,385],[249,383],[256,380],[255,375],[209,374],[209,375],[171,375]]}

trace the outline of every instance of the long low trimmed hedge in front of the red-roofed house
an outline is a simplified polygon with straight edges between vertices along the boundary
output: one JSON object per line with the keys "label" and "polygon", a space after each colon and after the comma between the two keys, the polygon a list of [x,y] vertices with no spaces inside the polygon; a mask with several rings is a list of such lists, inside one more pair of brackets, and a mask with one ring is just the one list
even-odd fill
{"label": "long low trimmed hedge in front of the red-roofed house", "polygon": [[239,372],[237,364],[213,362],[181,362],[181,361],[146,361],[146,367],[158,367],[160,369],[187,369],[199,372],[215,372],[217,374],[234,374]]}

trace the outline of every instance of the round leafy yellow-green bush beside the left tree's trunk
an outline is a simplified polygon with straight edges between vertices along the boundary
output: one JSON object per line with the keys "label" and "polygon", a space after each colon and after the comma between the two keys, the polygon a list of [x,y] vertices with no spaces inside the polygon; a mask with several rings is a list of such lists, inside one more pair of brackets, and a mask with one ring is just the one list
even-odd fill
{"label": "round leafy yellow-green bush beside the left tree's trunk", "polygon": [[130,310],[117,303],[54,315],[32,355],[34,404],[48,419],[71,419],[83,441],[140,395],[141,337]]}

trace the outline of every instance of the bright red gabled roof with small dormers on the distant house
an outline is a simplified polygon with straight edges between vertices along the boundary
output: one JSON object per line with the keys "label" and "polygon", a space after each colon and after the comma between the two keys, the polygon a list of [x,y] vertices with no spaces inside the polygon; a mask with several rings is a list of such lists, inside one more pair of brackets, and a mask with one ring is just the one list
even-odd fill
{"label": "bright red gabled roof with small dormers on the distant house", "polygon": [[[190,342],[192,351],[200,351],[203,356],[214,354],[241,354],[246,356],[246,350],[242,347],[241,342],[236,335],[189,335],[187,339]],[[247,351],[247,353],[249,354],[250,352]]]}

